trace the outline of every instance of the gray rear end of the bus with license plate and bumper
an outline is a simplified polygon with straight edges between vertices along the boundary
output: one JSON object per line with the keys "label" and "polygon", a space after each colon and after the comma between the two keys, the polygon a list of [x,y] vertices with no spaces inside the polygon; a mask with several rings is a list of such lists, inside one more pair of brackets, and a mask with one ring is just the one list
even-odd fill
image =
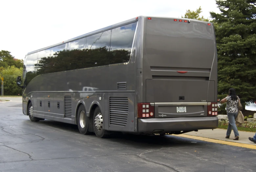
{"label": "gray rear end of the bus with license plate and bumper", "polygon": [[180,134],[217,128],[213,24],[184,18],[139,20],[143,52],[138,132]]}

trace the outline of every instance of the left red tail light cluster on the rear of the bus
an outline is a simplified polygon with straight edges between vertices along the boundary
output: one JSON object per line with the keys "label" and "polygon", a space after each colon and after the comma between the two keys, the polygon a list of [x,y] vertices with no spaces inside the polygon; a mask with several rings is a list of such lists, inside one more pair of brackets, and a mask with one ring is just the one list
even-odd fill
{"label": "left red tail light cluster on the rear of the bus", "polygon": [[155,106],[150,103],[138,103],[138,118],[155,118]]}

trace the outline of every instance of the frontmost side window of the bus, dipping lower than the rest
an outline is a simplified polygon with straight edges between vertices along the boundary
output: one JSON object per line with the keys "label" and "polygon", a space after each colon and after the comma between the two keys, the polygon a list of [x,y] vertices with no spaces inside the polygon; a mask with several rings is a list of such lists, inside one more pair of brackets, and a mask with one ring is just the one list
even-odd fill
{"label": "frontmost side window of the bus, dipping lower than the rest", "polygon": [[26,58],[25,86],[27,86],[34,77],[36,77],[38,52],[30,54]]}

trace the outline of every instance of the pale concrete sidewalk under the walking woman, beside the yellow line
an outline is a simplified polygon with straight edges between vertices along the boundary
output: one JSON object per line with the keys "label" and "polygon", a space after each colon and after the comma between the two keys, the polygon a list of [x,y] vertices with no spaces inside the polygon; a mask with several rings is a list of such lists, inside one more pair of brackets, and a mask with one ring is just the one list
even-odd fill
{"label": "pale concrete sidewalk under the walking woman, beside the yellow line", "polygon": [[226,129],[207,129],[207,130],[198,130],[198,131],[192,131],[188,133],[184,133],[184,135],[190,135],[190,136],[198,136],[198,137],[204,137],[209,139],[216,139],[216,140],[223,140],[228,142],[235,142],[235,143],[244,143],[244,144],[252,144],[256,145],[256,143],[253,143],[249,141],[248,137],[253,137],[255,135],[254,132],[247,132],[247,131],[238,131],[239,132],[239,140],[233,140],[235,137],[234,132],[232,130],[230,138],[226,139]]}

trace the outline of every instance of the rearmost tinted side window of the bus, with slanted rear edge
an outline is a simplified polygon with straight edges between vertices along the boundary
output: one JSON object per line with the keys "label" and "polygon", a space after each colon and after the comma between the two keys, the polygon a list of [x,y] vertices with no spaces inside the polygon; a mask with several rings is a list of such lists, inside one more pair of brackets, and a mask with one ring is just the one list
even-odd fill
{"label": "rearmost tinted side window of the bus, with slanted rear edge", "polygon": [[129,62],[136,25],[137,22],[112,29],[110,64]]}

